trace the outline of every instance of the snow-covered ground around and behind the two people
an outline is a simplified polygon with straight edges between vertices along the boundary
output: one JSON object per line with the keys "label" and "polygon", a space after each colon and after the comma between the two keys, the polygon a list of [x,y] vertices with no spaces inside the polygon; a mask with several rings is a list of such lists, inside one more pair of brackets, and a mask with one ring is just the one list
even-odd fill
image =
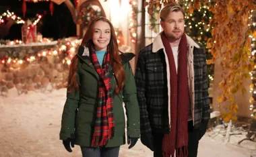
{"label": "snow-covered ground around and behind the two people", "polygon": [[[52,93],[30,92],[16,96],[0,97],[0,157],[81,157],[79,146],[69,153],[59,140],[61,113],[65,103],[65,89]],[[251,157],[256,143],[237,142],[243,136],[231,136],[230,143],[224,144],[223,137],[208,132],[199,142],[198,157]],[[254,150],[253,150],[254,149]],[[131,150],[121,146],[120,157],[150,157],[152,152],[140,141]]]}

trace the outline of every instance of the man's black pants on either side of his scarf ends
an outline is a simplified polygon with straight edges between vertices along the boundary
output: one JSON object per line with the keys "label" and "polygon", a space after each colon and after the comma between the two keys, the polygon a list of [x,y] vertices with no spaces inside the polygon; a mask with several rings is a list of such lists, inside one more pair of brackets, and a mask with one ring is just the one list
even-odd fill
{"label": "man's black pants on either side of his scarf ends", "polygon": [[[196,129],[193,129],[193,121],[188,122],[188,131],[189,131],[189,146],[188,146],[189,156],[188,157],[197,157],[199,132]],[[154,157],[162,157],[162,139],[164,138],[164,135],[153,133],[153,136],[154,136]]]}

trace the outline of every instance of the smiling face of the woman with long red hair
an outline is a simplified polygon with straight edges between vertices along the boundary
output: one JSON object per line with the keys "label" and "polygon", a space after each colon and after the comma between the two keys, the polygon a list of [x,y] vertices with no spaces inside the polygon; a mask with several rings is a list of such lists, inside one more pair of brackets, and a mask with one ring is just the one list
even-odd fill
{"label": "smiling face of the woman with long red hair", "polygon": [[104,21],[96,21],[93,28],[92,42],[96,51],[106,50],[111,38],[110,25]]}

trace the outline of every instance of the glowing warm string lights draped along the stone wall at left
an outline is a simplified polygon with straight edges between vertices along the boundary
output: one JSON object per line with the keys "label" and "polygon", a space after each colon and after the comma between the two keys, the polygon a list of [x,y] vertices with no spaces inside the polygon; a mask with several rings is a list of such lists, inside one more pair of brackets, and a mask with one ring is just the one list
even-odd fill
{"label": "glowing warm string lights draped along the stone wall at left", "polygon": [[[17,40],[18,41],[18,40]],[[16,41],[15,41],[16,42]],[[41,50],[36,55],[28,55],[24,58],[18,58],[13,56],[5,56],[5,58],[1,59],[1,64],[29,64],[34,60],[40,60],[41,57],[46,56],[63,56],[62,60],[63,64],[71,64],[71,59],[73,58],[77,46],[80,44],[79,40],[75,40],[73,42],[65,41],[57,44],[56,48],[52,48],[51,50]]]}

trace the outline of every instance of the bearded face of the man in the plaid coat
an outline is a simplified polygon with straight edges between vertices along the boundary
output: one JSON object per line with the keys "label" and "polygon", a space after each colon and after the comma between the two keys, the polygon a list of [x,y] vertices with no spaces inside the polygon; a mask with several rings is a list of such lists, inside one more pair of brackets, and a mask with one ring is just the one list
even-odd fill
{"label": "bearded face of the man in the plaid coat", "polygon": [[160,24],[169,41],[181,39],[185,25],[184,15],[181,11],[170,12],[164,21],[160,21]]}

